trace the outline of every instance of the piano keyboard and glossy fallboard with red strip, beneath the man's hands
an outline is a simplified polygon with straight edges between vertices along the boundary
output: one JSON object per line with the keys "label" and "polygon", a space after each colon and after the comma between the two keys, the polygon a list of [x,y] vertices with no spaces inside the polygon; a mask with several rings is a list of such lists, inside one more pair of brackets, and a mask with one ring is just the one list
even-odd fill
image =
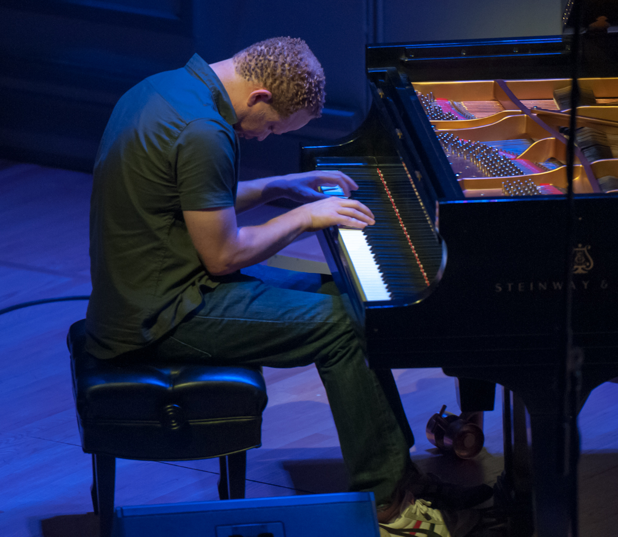
{"label": "piano keyboard and glossy fallboard with red strip, beneath the man's hands", "polygon": [[[417,296],[436,277],[442,246],[404,166],[364,165],[358,160],[329,165],[328,158],[321,158],[317,166],[349,175],[358,184],[350,197],[369,207],[376,218],[375,225],[364,230],[339,230],[340,245],[366,301]],[[341,195],[328,187],[323,191]]]}

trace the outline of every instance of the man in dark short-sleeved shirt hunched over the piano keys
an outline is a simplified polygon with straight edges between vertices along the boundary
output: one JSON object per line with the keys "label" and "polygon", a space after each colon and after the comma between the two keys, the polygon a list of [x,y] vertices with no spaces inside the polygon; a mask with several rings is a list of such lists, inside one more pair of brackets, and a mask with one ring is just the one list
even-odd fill
{"label": "man in dark short-sleeved shirt hunched over the piano keys", "polygon": [[[374,223],[365,205],[318,192],[322,184],[346,195],[357,188],[339,172],[237,181],[239,137],[299,129],[323,104],[320,63],[292,38],[256,43],[210,66],[196,54],[125,93],[95,165],[87,350],[101,359],[130,359],[148,346],[156,356],[215,365],[314,362],[350,489],[375,493],[383,531],[422,520],[447,535],[440,512],[410,492],[462,509],[485,500],[488,488],[455,488],[416,470],[342,299],[240,273],[304,231]],[[237,226],[237,213],[279,197],[303,205],[263,225]]]}

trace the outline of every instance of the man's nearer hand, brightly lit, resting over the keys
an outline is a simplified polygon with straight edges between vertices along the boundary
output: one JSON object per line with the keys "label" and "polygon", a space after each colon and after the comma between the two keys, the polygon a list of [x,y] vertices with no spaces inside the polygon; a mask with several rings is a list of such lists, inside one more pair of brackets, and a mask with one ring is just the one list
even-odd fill
{"label": "man's nearer hand, brightly lit, resting over the keys", "polygon": [[305,220],[305,231],[323,230],[329,226],[363,229],[376,223],[373,213],[362,203],[335,196],[301,205],[294,212]]}

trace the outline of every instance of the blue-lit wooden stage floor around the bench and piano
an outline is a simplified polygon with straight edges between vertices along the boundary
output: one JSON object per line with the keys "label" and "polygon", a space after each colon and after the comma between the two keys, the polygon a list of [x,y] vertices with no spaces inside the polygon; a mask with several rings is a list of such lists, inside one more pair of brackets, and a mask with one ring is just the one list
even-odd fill
{"label": "blue-lit wooden stage floor around the bench and piano", "polygon": [[[90,293],[91,176],[0,161],[0,309]],[[253,213],[252,218],[263,213]],[[311,241],[307,241],[310,244]],[[292,249],[292,257],[294,257]],[[320,257],[311,252],[311,259]],[[75,422],[65,337],[86,302],[44,304],[0,316],[0,536],[94,537],[90,455]],[[394,372],[425,470],[458,483],[493,484],[502,471],[501,405],[485,415],[474,460],[438,455],[425,424],[442,404],[458,412],[441,369]],[[315,367],[265,369],[263,445],[248,452],[247,497],[341,492],[346,476]],[[618,385],[592,393],[580,415],[580,512],[585,537],[618,536]],[[117,463],[116,505],[217,498],[218,460]]]}

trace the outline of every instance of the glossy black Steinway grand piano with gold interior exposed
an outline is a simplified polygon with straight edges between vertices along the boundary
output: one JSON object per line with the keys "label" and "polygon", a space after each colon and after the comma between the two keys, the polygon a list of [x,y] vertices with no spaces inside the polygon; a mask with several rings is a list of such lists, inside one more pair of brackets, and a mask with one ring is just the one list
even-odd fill
{"label": "glossy black Steinway grand piano with gold interior exposed", "polygon": [[[349,174],[360,186],[352,197],[376,215],[364,231],[320,236],[371,367],[442,367],[468,387],[462,410],[491,410],[475,390],[503,385],[523,402],[520,459],[525,404],[531,486],[510,476],[519,491],[507,495],[533,498],[540,537],[567,535],[569,502],[557,453],[570,39],[370,45],[365,122],[302,148],[303,171]],[[618,33],[582,36],[580,77],[571,286],[583,405],[618,376]],[[531,531],[515,523],[512,535]]]}

